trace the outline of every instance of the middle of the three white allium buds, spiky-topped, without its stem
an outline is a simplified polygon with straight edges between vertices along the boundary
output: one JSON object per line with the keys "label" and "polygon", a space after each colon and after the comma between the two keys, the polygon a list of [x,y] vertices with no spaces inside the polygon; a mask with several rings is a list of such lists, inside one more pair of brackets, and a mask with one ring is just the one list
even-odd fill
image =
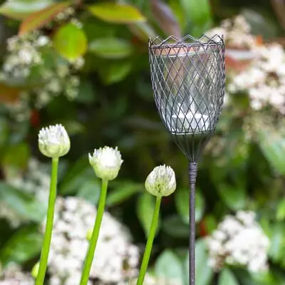
{"label": "middle of the three white allium buds, spiky-topped, without its stem", "polygon": [[118,176],[120,166],[123,163],[118,147],[100,147],[89,153],[90,165],[94,168],[95,175],[103,180],[114,180]]}

